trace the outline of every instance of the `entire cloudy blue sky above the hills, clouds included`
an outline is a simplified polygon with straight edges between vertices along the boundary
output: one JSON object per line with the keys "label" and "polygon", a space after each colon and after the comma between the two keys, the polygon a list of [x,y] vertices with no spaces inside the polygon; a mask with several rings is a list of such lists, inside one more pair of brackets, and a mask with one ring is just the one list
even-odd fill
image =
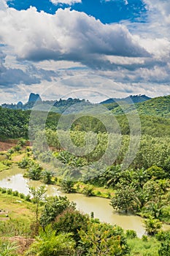
{"label": "entire cloudy blue sky above the hills, clouds included", "polygon": [[0,104],[170,94],[169,0],[0,0]]}

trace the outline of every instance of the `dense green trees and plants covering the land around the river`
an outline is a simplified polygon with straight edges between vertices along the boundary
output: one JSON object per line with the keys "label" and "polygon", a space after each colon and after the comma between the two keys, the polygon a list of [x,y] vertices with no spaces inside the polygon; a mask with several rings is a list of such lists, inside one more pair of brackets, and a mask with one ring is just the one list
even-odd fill
{"label": "dense green trees and plants covering the land around the river", "polygon": [[[114,132],[98,114],[80,116],[68,132],[76,114],[63,115],[56,130],[61,114],[0,108],[1,141],[17,138],[0,154],[0,172],[18,167],[25,177],[58,185],[63,192],[107,197],[113,209],[143,217],[146,230],[137,238],[134,230],[102,223],[93,213],[77,211],[67,197],[47,197],[45,186],[29,187],[29,195],[0,188],[1,206],[7,202],[12,208],[9,217],[1,209],[0,255],[170,255],[170,231],[161,230],[170,224],[169,100],[136,103],[141,134],[135,122],[131,133],[131,106],[123,114],[114,103],[108,105],[120,126]],[[28,138],[32,147],[25,145]],[[72,143],[75,151],[69,150]],[[27,243],[22,252],[12,240],[19,236]]]}

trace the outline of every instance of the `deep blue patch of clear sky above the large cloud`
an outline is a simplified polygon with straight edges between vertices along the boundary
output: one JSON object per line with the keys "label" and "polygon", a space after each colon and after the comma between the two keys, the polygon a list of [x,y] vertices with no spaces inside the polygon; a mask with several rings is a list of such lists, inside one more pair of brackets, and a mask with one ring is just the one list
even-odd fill
{"label": "deep blue patch of clear sky above the large cloud", "polygon": [[71,7],[71,10],[85,12],[88,15],[101,20],[102,23],[115,23],[120,20],[143,20],[146,15],[146,7],[141,0],[82,0],[81,3],[70,4],[53,4],[48,0],[13,0],[7,1],[9,7],[14,7],[17,10],[26,10],[30,6],[36,7],[40,11],[45,11],[50,14],[55,14],[59,8]]}

